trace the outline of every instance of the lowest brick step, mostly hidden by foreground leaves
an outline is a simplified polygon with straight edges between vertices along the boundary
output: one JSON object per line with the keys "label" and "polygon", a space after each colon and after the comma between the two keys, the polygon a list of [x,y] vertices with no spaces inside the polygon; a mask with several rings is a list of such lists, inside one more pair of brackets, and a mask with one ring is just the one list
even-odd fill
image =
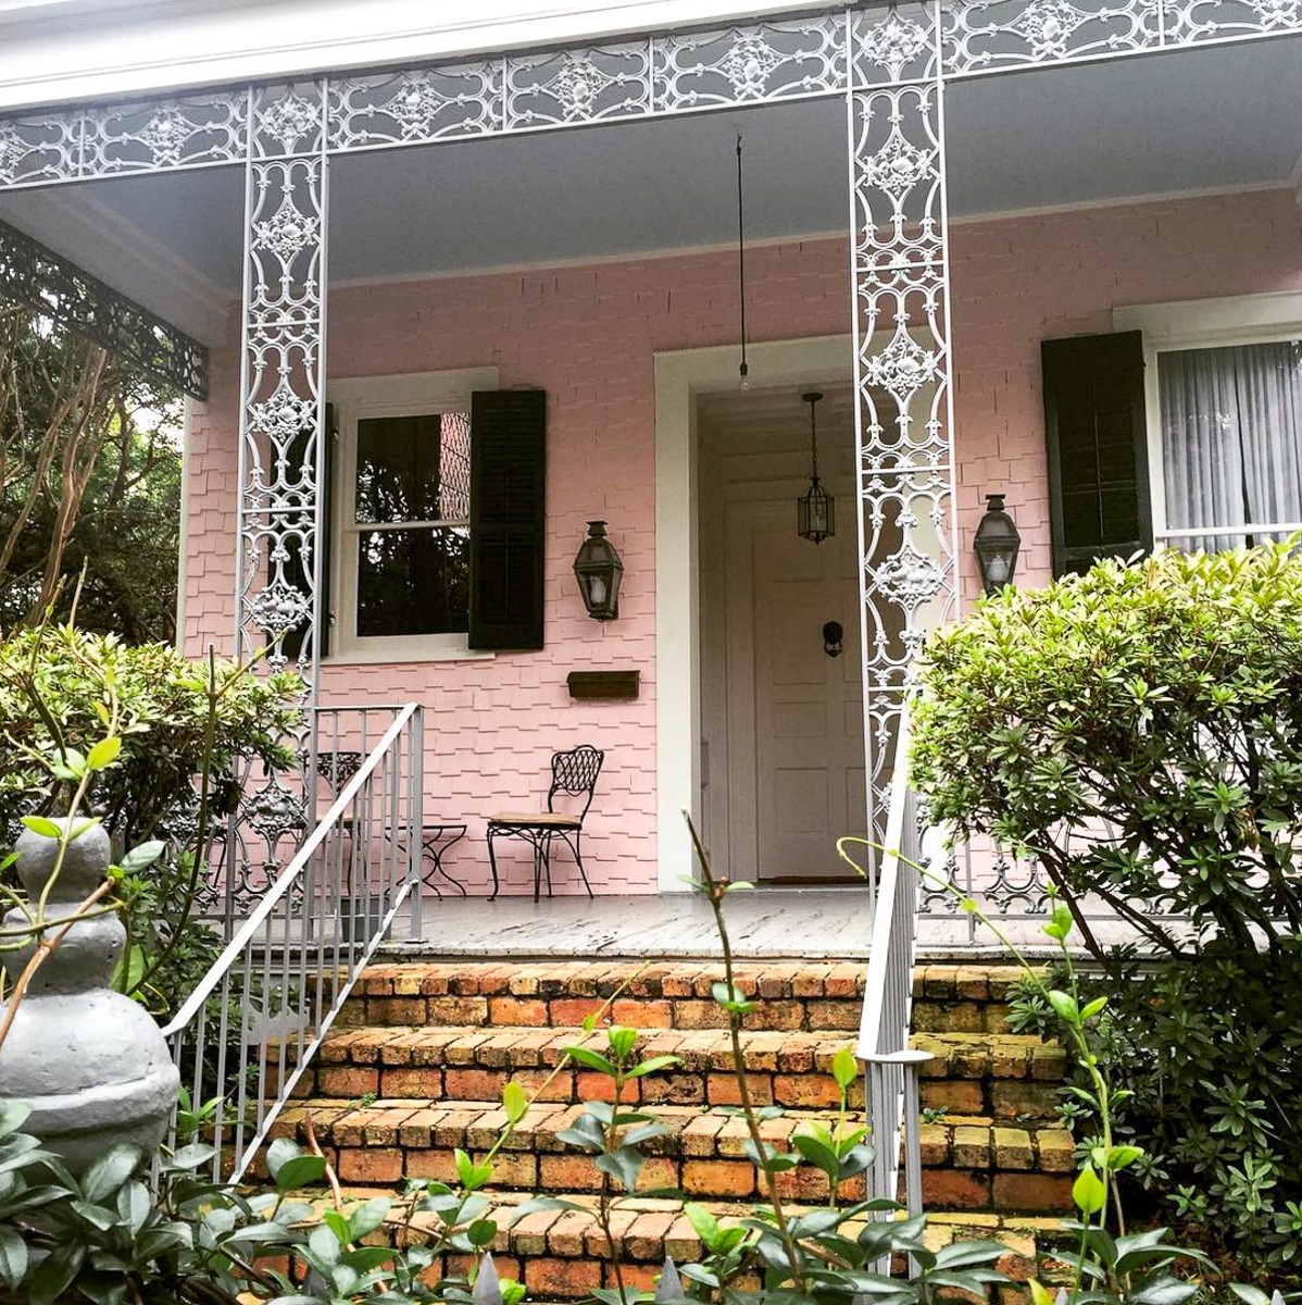
{"label": "lowest brick step, mostly hidden by foreground leaves", "polygon": [[[350,1199],[359,1201],[377,1194],[374,1189],[365,1188],[347,1191]],[[590,1208],[596,1206],[596,1198],[591,1193],[556,1193],[556,1195]],[[492,1199],[491,1216],[498,1221],[498,1233],[491,1249],[497,1270],[504,1278],[523,1282],[531,1301],[545,1305],[548,1301],[581,1300],[590,1297],[598,1288],[616,1285],[613,1270],[607,1262],[605,1240],[594,1219],[569,1210],[539,1211],[506,1227],[513,1210],[528,1198],[523,1193],[501,1193]],[[731,1202],[707,1205],[715,1218],[724,1221],[740,1221],[753,1214],[745,1205]],[[806,1208],[791,1206],[788,1212],[797,1216]],[[416,1216],[417,1236],[434,1218]],[[1037,1253],[1062,1240],[1059,1225],[1061,1219],[1057,1218],[937,1212],[929,1219],[924,1240],[931,1249],[959,1240],[1002,1241],[1008,1248],[1008,1254],[999,1259],[997,1267],[1018,1284],[1035,1274]],[[847,1223],[845,1231],[853,1236],[858,1227]],[[674,1201],[635,1198],[616,1211],[612,1231],[620,1249],[626,1287],[651,1291],[665,1254],[672,1255],[680,1265],[691,1263],[702,1254],[699,1238],[682,1215],[678,1202]],[[464,1274],[468,1266],[463,1258],[449,1257],[445,1267]],[[1023,1305],[1027,1300],[1025,1291],[1014,1284],[995,1289],[993,1300],[997,1305]],[[744,1291],[754,1291],[758,1285],[757,1280],[738,1283]]]}

